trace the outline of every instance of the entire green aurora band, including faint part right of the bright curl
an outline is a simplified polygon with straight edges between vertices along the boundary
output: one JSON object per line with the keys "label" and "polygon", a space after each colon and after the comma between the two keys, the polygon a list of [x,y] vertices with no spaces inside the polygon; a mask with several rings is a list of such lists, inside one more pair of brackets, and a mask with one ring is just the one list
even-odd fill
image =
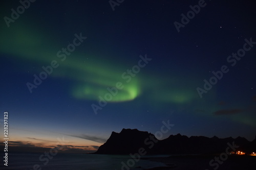
{"label": "entire green aurora band, including faint part right of the bright curl", "polygon": [[[196,87],[198,82],[202,82],[201,77],[188,75],[188,72],[175,72],[173,75],[153,74],[148,71],[145,74],[139,72],[130,82],[122,78],[122,74],[128,69],[124,63],[114,63],[108,60],[108,56],[99,54],[90,54],[82,52],[82,46],[77,46],[76,50],[65,61],[61,61],[57,52],[66,47],[67,43],[61,43],[54,36],[47,34],[42,28],[29,28],[26,22],[19,19],[16,22],[22,22],[19,27],[10,27],[2,25],[0,32],[2,41],[0,41],[0,52],[9,57],[23,61],[22,67],[26,72],[30,70],[32,75],[42,70],[42,66],[50,65],[52,60],[59,63],[50,75],[53,78],[68,79],[73,83],[70,88],[70,94],[81,100],[98,101],[99,96],[109,93],[107,88],[116,86],[117,82],[123,83],[123,89],[118,90],[117,95],[109,102],[126,102],[138,98],[140,95],[146,95],[146,103],[150,103],[154,108],[170,107],[178,110],[184,108],[194,112],[194,114],[214,116],[215,111],[225,109],[218,105],[216,88],[212,88],[204,99],[200,99]],[[17,24],[15,22],[15,24]],[[59,35],[60,36],[60,35]],[[72,40],[72,39],[71,39]],[[85,40],[83,43],[86,43]],[[27,63],[24,64],[24,63]],[[32,69],[33,64],[34,69]],[[132,68],[133,65],[130,65]],[[154,75],[154,76],[153,76]],[[194,79],[190,78],[193,77]],[[33,76],[31,76],[31,82]],[[26,82],[25,82],[26,83]],[[239,106],[239,104],[237,105]],[[226,106],[227,107],[227,106]],[[232,106],[230,106],[232,107]],[[202,110],[197,112],[196,110]],[[250,115],[230,115],[235,122],[255,126],[255,117]]]}

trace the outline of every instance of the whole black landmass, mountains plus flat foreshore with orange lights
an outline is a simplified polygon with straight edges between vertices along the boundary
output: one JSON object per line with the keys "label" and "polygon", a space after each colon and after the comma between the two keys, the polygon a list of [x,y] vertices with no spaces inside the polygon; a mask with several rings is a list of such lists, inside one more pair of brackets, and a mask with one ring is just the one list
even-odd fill
{"label": "whole black landmass, mountains plus flat foreshore with orange lights", "polygon": [[[148,132],[122,129],[120,133],[112,132],[94,154],[136,155],[136,158],[166,164],[152,169],[250,169],[256,167],[253,152],[256,155],[256,138],[248,141],[244,137],[209,138],[177,134],[158,140]],[[174,156],[142,158],[143,155]]]}

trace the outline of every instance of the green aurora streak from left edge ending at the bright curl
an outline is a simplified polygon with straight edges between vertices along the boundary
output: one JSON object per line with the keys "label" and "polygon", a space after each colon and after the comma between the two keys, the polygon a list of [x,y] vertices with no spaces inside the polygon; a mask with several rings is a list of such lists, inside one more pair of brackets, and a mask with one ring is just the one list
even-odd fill
{"label": "green aurora streak from left edge ending at the bright curl", "polygon": [[[11,34],[8,35],[6,32],[11,32]],[[108,93],[107,88],[115,87],[117,82],[124,83],[123,88],[118,90],[117,95],[113,96],[110,102],[131,101],[140,93],[138,75],[133,77],[131,82],[125,83],[124,79],[121,78],[123,68],[120,66],[119,68],[113,67],[113,64],[108,63],[103,57],[79,54],[75,51],[67,56],[65,61],[61,61],[56,57],[56,53],[61,47],[55,45],[57,50],[53,49],[51,46],[54,45],[51,44],[57,43],[45,38],[49,36],[42,36],[43,34],[35,33],[33,30],[23,27],[18,29],[11,27],[6,32],[5,34],[4,32],[1,33],[1,37],[4,38],[0,44],[2,53],[34,62],[35,65],[39,65],[38,72],[42,71],[40,64],[47,66],[52,60],[56,60],[59,67],[55,68],[50,76],[75,80],[77,84],[74,85],[71,93],[77,99],[97,101],[98,96],[104,96],[105,93]],[[84,61],[80,56],[90,58],[90,60]]]}

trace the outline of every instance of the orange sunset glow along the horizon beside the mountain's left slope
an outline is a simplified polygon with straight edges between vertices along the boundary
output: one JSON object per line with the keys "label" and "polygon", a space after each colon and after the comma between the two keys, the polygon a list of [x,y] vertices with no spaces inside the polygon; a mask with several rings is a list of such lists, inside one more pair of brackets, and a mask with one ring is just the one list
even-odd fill
{"label": "orange sunset glow along the horizon beside the mountain's left slope", "polygon": [[[54,148],[59,147],[61,151],[65,152],[67,150],[74,150],[74,152],[79,150],[84,153],[95,152],[97,147],[103,143],[82,139],[78,137],[72,137],[68,135],[62,135],[55,132],[33,132],[13,129],[12,133],[9,135],[8,143],[12,147],[35,147],[35,148]],[[4,142],[3,135],[1,137],[1,144]]]}

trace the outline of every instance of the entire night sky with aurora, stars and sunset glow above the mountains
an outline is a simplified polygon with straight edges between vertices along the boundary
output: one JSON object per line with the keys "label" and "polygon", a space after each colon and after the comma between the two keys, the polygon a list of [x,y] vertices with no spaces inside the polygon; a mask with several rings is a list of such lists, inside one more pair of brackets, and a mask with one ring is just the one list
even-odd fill
{"label": "entire night sky with aurora, stars and sunset glow above the mountains", "polygon": [[8,111],[12,146],[64,137],[66,151],[88,152],[167,120],[163,138],[253,140],[254,1],[117,2],[37,0],[18,17],[19,1],[1,2],[0,127]]}

